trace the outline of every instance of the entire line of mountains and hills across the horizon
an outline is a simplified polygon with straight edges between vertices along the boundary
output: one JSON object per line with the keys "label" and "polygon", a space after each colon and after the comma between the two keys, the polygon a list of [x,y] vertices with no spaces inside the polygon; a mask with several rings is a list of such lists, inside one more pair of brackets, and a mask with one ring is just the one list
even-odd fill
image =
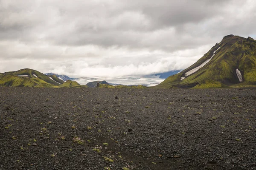
{"label": "entire line of mountains and hills across the horizon", "polygon": [[[172,75],[173,74],[173,75]],[[171,75],[171,76],[170,76]],[[195,64],[183,71],[152,74],[166,78],[149,88],[240,88],[256,87],[256,40],[228,35]],[[110,85],[106,81],[79,85],[67,75],[42,74],[29,68],[0,73],[0,86],[11,87],[96,87],[146,88],[143,85]]]}

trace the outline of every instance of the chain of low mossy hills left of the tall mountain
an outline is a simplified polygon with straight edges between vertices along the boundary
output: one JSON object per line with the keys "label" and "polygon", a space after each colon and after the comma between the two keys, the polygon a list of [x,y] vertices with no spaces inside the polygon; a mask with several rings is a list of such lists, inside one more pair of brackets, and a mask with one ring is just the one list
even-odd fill
{"label": "chain of low mossy hills left of the tall mountain", "polygon": [[[60,76],[60,75],[58,75]],[[65,75],[63,75],[65,77]],[[67,78],[67,77],[65,77]],[[70,78],[70,77],[68,77]],[[73,78],[70,78],[73,79]],[[0,73],[0,87],[36,87],[36,88],[146,88],[143,85],[110,85],[106,81],[89,82],[80,85],[76,81],[58,78],[55,74],[42,74],[39,71],[24,68],[18,71]]]}

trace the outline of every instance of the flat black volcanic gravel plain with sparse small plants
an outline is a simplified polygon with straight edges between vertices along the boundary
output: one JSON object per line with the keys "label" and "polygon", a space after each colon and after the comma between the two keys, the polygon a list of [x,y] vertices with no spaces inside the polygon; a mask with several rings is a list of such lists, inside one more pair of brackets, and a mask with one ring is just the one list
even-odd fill
{"label": "flat black volcanic gravel plain with sparse small plants", "polygon": [[256,169],[256,90],[0,88],[0,170],[106,167]]}

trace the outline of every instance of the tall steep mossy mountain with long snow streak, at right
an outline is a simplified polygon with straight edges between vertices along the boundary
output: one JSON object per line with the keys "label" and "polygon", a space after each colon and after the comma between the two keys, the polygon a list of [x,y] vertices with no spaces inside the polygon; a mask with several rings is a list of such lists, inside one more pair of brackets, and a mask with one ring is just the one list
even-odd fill
{"label": "tall steep mossy mountain with long snow streak, at right", "polygon": [[189,68],[154,88],[224,88],[256,85],[256,40],[225,36]]}

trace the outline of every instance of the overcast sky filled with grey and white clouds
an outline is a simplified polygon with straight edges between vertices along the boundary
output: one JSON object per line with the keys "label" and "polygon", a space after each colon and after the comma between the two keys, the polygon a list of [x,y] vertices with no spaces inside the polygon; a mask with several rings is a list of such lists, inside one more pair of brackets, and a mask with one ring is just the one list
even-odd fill
{"label": "overcast sky filled with grey and white clouds", "polygon": [[0,0],[0,72],[185,69],[225,35],[256,39],[255,0]]}

